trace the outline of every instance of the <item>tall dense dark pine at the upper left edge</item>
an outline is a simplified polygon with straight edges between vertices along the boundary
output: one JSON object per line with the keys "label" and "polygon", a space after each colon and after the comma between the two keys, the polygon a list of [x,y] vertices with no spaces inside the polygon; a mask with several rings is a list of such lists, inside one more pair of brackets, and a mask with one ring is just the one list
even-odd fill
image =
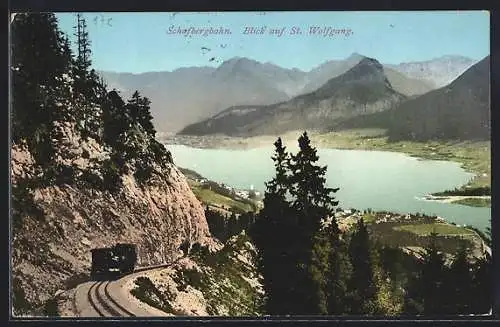
{"label": "tall dense dark pine at the upper left edge", "polygon": [[64,117],[68,88],[60,78],[70,65],[67,41],[52,13],[17,14],[12,23],[12,129],[36,162],[52,166],[54,122]]}

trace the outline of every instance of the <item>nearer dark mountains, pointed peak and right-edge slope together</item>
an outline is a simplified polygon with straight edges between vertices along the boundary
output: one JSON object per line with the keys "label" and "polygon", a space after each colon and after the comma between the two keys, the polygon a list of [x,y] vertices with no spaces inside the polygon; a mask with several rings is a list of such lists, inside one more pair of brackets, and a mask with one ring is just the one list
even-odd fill
{"label": "nearer dark mountains, pointed peak and right-edge slope together", "polygon": [[277,135],[377,127],[391,139],[489,139],[489,57],[445,87],[404,95],[387,69],[363,58],[313,92],[266,106],[233,106],[180,134]]}

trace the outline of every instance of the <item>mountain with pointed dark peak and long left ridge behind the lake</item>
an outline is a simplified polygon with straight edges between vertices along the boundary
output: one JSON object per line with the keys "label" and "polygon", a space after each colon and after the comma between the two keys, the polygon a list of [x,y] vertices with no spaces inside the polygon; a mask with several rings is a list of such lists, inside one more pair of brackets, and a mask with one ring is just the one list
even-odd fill
{"label": "mountain with pointed dark peak and long left ridge behind the lake", "polygon": [[253,136],[322,129],[337,119],[384,111],[406,99],[393,89],[378,61],[364,58],[313,92],[267,106],[230,107],[180,133]]}

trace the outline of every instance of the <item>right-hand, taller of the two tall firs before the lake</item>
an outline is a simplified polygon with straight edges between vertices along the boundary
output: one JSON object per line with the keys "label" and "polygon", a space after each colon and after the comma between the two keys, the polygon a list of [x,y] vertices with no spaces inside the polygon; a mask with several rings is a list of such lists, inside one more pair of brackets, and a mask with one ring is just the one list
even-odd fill
{"label": "right-hand, taller of the two tall firs before the lake", "polygon": [[[292,209],[297,215],[298,234],[294,256],[298,262],[299,287],[297,300],[300,313],[323,314],[328,307],[324,276],[319,277],[319,271],[324,271],[321,258],[314,249],[323,223],[334,216],[335,200],[333,193],[338,188],[328,188],[326,184],[326,166],[317,165],[319,157],[317,150],[311,146],[311,141],[304,132],[298,139],[299,151],[289,160],[290,194],[293,198]],[[335,219],[332,229],[338,233]]]}

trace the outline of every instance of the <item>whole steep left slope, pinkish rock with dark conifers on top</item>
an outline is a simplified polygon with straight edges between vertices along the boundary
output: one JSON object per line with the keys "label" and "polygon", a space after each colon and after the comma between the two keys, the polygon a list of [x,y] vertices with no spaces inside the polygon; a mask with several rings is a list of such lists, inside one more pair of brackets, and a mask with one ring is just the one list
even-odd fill
{"label": "whole steep left slope, pinkish rock with dark conifers on top", "polygon": [[12,40],[14,314],[44,314],[57,290],[85,281],[92,248],[136,243],[150,265],[184,241],[213,245],[201,203],[155,139],[150,101],[108,92],[54,14],[16,15]]}

